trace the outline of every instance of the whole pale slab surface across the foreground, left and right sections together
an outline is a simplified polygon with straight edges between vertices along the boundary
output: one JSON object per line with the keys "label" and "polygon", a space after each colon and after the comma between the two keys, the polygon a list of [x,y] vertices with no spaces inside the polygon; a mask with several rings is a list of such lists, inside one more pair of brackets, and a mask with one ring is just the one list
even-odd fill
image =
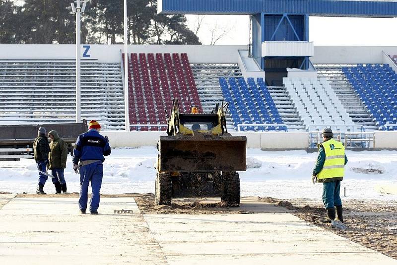
{"label": "whole pale slab surface across the foreground, left and right sections together", "polygon": [[[120,197],[83,215],[76,198],[13,197],[0,195],[0,265],[397,264],[250,199],[273,213],[142,216],[134,199]],[[114,213],[121,209],[134,213]]]}

